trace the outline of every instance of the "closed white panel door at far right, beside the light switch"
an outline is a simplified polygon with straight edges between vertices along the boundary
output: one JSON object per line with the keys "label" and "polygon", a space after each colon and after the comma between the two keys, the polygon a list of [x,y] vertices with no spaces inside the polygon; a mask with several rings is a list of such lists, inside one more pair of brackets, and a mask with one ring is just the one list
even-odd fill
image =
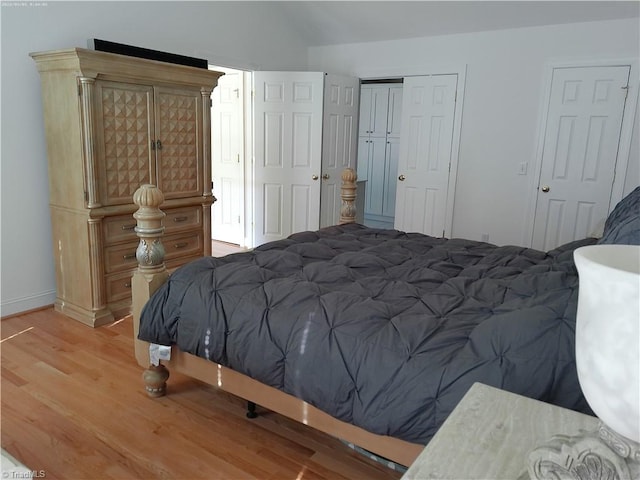
{"label": "closed white panel door at far right, beside the light switch", "polygon": [[629,66],[555,68],[532,246],[592,235],[609,210]]}

